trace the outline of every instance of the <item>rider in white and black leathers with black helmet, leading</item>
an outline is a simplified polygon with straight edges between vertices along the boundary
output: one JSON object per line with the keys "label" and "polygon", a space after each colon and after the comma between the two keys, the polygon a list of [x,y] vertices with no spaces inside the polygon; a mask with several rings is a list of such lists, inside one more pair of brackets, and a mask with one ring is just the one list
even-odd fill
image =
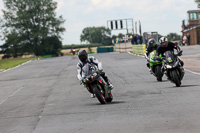
{"label": "rider in white and black leathers with black helmet, leading", "polygon": [[[99,62],[95,57],[93,56],[89,56],[88,57],[88,53],[86,50],[82,49],[82,50],[79,50],[78,52],[78,58],[79,58],[79,62],[77,64],[77,72],[78,72],[78,75],[77,75],[77,78],[79,79],[79,81],[81,83],[84,84],[83,80],[84,80],[84,77],[82,77],[83,75],[83,70],[82,68],[85,66],[86,63],[89,63],[89,64],[92,64],[92,65],[95,65],[99,71],[101,72],[101,76],[103,77],[103,79],[105,80],[105,82],[108,84],[108,87],[112,90],[113,89],[113,85],[111,84],[110,80],[108,79],[107,75],[105,74],[105,72],[103,72],[103,68],[102,68],[102,63]],[[87,84],[84,84],[85,87],[87,88]],[[91,97],[94,98],[95,95],[93,94],[92,90],[88,90],[91,94]]]}

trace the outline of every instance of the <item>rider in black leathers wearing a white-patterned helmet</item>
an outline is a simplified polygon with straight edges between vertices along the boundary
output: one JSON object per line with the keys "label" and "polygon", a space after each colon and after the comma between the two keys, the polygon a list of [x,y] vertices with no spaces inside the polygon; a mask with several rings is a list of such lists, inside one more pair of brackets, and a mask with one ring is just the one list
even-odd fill
{"label": "rider in black leathers wearing a white-patterned helmet", "polygon": [[[166,51],[168,51],[168,50],[174,50],[174,49],[177,50],[177,53],[179,53],[179,56],[182,55],[182,50],[180,49],[180,47],[179,47],[178,45],[174,44],[173,42],[168,41],[168,39],[167,39],[166,37],[161,37],[161,38],[159,39],[159,43],[160,43],[160,45],[158,46],[158,48],[157,48],[157,53],[156,53],[156,56],[157,56],[157,57],[158,57],[160,54],[161,54],[162,56],[164,56],[163,54],[164,54]],[[180,59],[179,59],[179,61],[180,61],[180,63],[181,63],[180,69],[181,69],[181,71],[182,71],[182,74],[184,74],[184,69],[183,69],[184,63],[183,63],[183,61],[181,61]]]}

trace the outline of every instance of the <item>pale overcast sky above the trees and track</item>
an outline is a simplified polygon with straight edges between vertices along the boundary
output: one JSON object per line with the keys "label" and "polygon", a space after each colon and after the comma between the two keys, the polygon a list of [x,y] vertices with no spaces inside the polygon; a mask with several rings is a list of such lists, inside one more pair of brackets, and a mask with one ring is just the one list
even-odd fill
{"label": "pale overcast sky above the trees and track", "polygon": [[[63,45],[80,44],[84,28],[107,26],[107,20],[140,20],[142,32],[157,31],[161,35],[175,32],[181,35],[181,24],[187,19],[187,11],[195,10],[194,0],[55,0],[57,15],[66,20]],[[4,7],[0,0],[0,9]],[[2,12],[0,12],[2,16]],[[126,33],[115,31],[112,34]]]}

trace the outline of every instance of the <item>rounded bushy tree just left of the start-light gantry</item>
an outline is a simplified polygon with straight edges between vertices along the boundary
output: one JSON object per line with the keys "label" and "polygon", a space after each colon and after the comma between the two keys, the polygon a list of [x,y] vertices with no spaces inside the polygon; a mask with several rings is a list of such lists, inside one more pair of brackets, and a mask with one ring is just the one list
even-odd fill
{"label": "rounded bushy tree just left of the start-light gantry", "polygon": [[80,36],[81,42],[100,43],[103,45],[112,44],[110,37],[111,31],[105,27],[87,27],[84,28]]}

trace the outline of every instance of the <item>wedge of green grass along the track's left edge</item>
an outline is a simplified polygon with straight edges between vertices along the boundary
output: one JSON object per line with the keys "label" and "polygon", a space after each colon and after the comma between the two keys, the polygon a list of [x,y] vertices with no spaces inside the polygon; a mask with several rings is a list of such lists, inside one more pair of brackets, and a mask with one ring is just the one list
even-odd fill
{"label": "wedge of green grass along the track's left edge", "polygon": [[[35,60],[38,57],[35,58],[15,58],[15,59],[4,59],[0,60],[0,69],[9,69],[15,66],[18,66],[24,62],[27,62],[29,60]],[[0,70],[1,71],[1,70]]]}

